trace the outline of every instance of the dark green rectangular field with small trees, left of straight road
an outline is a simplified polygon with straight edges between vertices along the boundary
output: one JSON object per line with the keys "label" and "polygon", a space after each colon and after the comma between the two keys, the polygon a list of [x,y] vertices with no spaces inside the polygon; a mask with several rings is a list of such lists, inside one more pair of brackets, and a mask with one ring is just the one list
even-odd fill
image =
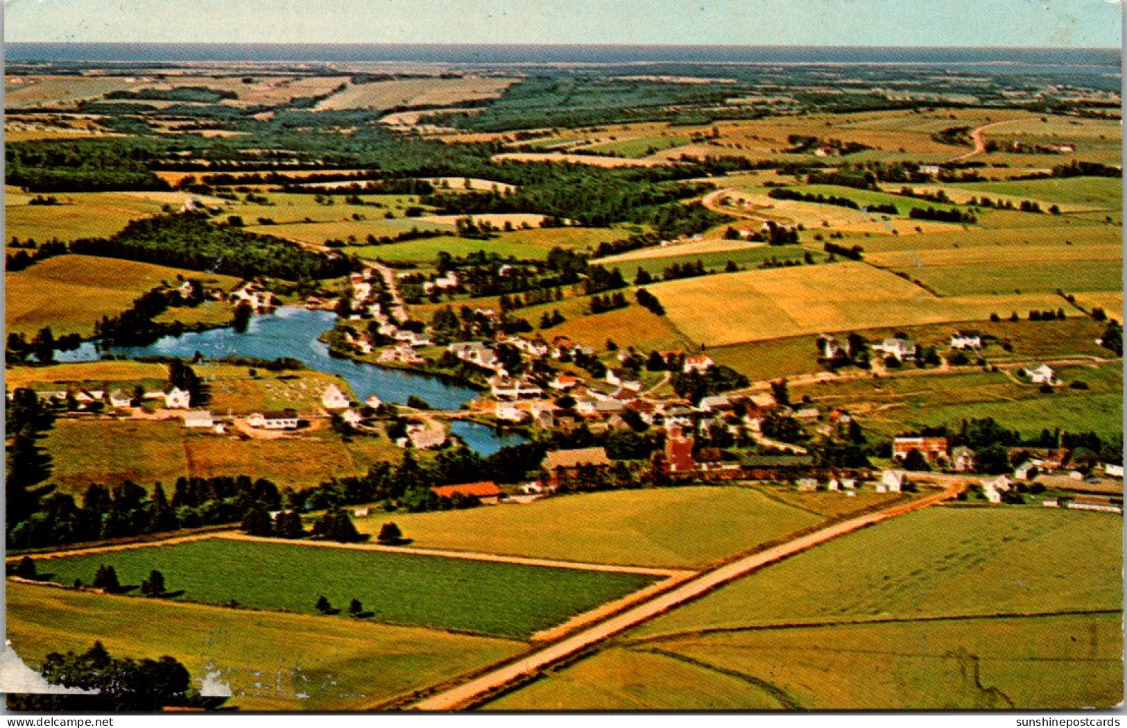
{"label": "dark green rectangular field with small trees, left of straight road", "polygon": [[638,574],[224,539],[53,558],[41,561],[39,570],[62,584],[78,578],[89,584],[101,563],[112,565],[126,586],[158,569],[170,592],[183,591],[176,598],[193,602],[233,600],[251,609],[317,614],[320,595],[338,609],[358,598],[373,621],[517,639],[654,580]]}

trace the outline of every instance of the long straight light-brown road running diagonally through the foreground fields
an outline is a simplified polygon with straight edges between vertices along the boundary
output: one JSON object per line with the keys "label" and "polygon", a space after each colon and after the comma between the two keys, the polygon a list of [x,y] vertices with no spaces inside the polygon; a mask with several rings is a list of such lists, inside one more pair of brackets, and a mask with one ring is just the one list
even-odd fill
{"label": "long straight light-brown road running diagonally through the foreground fields", "polygon": [[819,543],[825,543],[826,541],[845,535],[846,533],[851,533],[858,529],[863,529],[864,526],[879,523],[880,521],[924,508],[947,498],[952,498],[962,490],[965,486],[961,483],[965,483],[966,479],[942,479],[941,481],[947,482],[948,485],[940,492],[926,496],[912,503],[893,506],[884,511],[878,511],[876,513],[827,526],[773,549],[767,549],[766,551],[762,551],[760,553],[739,559],[738,561],[706,571],[696,578],[686,581],[682,586],[660,594],[653,600],[619,614],[618,616],[611,618],[605,622],[591,627],[577,634],[574,634],[573,637],[566,638],[545,647],[544,649],[522,657],[514,663],[503,665],[502,667],[476,677],[468,683],[426,698],[415,703],[412,708],[416,710],[456,710],[471,704],[474,700],[491,691],[508,685],[523,676],[534,674],[536,671],[540,671],[552,663],[559,662],[566,657],[575,655],[576,652],[587,649],[588,647],[613,637],[614,634],[636,627],[646,620],[653,619],[668,609],[696,598],[710,589],[726,584],[727,581],[731,581],[733,579],[746,576],[761,567],[796,553],[800,553],[801,551],[818,545]]}

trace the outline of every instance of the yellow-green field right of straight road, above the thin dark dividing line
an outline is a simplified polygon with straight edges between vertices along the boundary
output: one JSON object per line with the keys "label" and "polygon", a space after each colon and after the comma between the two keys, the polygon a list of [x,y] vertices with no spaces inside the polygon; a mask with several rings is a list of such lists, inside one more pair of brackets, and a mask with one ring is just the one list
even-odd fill
{"label": "yellow-green field right of straight road, above the thin dark dividing line", "polygon": [[1121,540],[1122,520],[1113,514],[930,508],[766,567],[648,622],[637,636],[1120,610]]}

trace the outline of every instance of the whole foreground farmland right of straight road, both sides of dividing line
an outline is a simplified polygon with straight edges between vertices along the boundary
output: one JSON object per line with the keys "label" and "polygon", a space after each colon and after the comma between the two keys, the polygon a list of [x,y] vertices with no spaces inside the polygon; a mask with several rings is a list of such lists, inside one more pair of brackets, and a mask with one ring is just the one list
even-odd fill
{"label": "whole foreground farmland right of straight road, both sides of dividing line", "polygon": [[1112,707],[1121,535],[1109,514],[919,512],[721,587],[486,708]]}

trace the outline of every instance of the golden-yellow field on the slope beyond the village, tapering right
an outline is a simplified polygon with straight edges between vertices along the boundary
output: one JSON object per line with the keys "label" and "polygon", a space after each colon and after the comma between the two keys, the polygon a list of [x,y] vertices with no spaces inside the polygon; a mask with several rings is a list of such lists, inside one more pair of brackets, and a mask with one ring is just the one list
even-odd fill
{"label": "golden-yellow field on the slope beyond the village, tapering right", "polygon": [[669,320],[710,347],[824,331],[985,320],[1059,308],[1051,294],[940,299],[862,263],[748,270],[649,286]]}

